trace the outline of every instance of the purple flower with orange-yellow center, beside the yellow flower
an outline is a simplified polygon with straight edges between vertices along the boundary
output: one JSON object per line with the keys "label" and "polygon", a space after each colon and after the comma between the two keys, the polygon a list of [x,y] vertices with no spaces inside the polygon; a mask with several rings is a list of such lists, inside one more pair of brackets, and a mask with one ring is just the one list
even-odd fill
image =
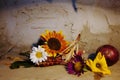
{"label": "purple flower with orange-yellow center, beside the yellow flower", "polygon": [[84,73],[84,60],[81,55],[75,54],[74,57],[66,64],[66,70],[69,74],[74,74],[80,76],[81,73]]}

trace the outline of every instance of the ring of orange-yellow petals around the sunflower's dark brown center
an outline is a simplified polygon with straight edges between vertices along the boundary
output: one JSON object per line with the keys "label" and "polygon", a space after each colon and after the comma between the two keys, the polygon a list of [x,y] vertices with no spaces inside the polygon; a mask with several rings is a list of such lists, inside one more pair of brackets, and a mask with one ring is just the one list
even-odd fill
{"label": "ring of orange-yellow petals around the sunflower's dark brown center", "polygon": [[67,43],[66,40],[64,40],[64,35],[62,35],[62,32],[56,32],[56,31],[48,31],[48,30],[46,30],[46,33],[42,34],[42,36],[45,38],[46,42],[48,42],[48,40],[50,38],[55,38],[61,44],[59,50],[51,49],[50,46],[48,46],[48,44],[43,45],[43,48],[46,50],[46,52],[49,54],[49,56],[55,57],[57,55],[56,53],[62,52],[63,49],[65,49],[67,47],[68,43]]}

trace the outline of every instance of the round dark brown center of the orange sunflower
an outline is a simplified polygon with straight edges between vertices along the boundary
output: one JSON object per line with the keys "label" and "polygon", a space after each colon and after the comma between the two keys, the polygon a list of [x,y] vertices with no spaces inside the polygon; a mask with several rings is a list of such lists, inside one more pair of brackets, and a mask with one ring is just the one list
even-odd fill
{"label": "round dark brown center of the orange sunflower", "polygon": [[48,46],[52,50],[59,50],[61,48],[61,43],[58,39],[56,38],[50,38],[48,40]]}

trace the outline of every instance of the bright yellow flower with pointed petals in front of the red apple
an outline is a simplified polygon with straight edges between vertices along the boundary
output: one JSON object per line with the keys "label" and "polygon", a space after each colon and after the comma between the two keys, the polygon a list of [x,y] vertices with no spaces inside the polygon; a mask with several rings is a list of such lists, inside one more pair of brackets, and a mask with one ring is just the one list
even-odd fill
{"label": "bright yellow flower with pointed petals in front of the red apple", "polygon": [[91,59],[88,59],[86,61],[86,64],[95,73],[111,74],[111,71],[108,69],[105,57],[104,55],[101,54],[101,52],[97,54],[94,61],[92,61]]}

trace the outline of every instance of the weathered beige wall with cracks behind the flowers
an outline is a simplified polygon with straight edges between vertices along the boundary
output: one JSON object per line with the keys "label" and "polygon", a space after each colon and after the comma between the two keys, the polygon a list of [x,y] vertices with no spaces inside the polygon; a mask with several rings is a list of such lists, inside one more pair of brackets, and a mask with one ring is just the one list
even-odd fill
{"label": "weathered beige wall with cracks behind the flowers", "polygon": [[48,29],[63,31],[70,41],[81,33],[80,46],[87,52],[103,44],[120,50],[119,0],[77,0],[77,12],[71,0],[48,1],[0,1],[1,51],[10,45],[29,47]]}

